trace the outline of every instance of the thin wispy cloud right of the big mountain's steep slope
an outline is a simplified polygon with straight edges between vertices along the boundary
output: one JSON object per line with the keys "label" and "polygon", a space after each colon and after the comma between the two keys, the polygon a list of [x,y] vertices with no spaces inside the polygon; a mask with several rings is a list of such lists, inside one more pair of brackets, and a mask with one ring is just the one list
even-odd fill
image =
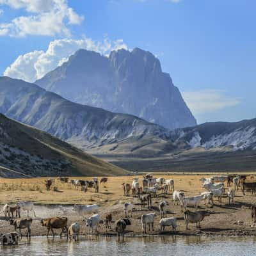
{"label": "thin wispy cloud right of the big mountain's steep slope", "polygon": [[195,115],[234,107],[241,102],[240,99],[228,97],[224,90],[209,89],[196,92],[182,92],[182,96]]}

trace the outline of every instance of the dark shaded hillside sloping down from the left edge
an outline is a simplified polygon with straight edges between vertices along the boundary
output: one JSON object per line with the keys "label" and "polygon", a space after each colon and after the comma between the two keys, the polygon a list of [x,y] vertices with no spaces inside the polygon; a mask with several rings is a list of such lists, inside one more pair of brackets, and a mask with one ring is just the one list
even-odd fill
{"label": "dark shaded hillside sloping down from the left edge", "polygon": [[124,175],[127,172],[0,114],[0,176]]}

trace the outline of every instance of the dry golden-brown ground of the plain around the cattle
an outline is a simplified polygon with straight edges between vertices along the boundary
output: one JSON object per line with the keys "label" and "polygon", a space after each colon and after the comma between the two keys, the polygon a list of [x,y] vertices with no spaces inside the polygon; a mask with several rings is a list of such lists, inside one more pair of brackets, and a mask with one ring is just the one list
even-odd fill
{"label": "dry golden-brown ground of the plain around the cattle", "polygon": [[[160,175],[156,175],[160,177]],[[191,175],[162,175],[166,179],[172,178],[175,180],[175,189],[183,190],[185,195],[198,195],[204,191],[202,188],[201,177],[207,177],[209,175],[191,174]],[[150,231],[148,234],[159,235],[159,234],[205,234],[205,235],[223,235],[223,236],[234,236],[234,235],[256,235],[256,226],[252,227],[252,217],[250,211],[250,205],[256,202],[256,196],[251,195],[247,192],[245,196],[241,190],[236,193],[234,203],[228,205],[227,198],[223,197],[222,202],[218,203],[214,200],[213,207],[207,207],[200,204],[200,209],[207,209],[211,212],[211,216],[206,217],[202,221],[201,230],[195,228],[195,225],[189,224],[190,230],[186,231],[184,216],[180,211],[179,205],[173,205],[172,192],[168,195],[162,195],[159,191],[156,198],[152,200],[152,208],[150,210],[141,209],[138,198],[132,196],[124,196],[122,188],[123,182],[129,182],[131,184],[134,176],[125,177],[109,177],[108,183],[103,186],[100,185],[99,193],[94,193],[92,189],[84,193],[80,190],[76,190],[71,184],[61,184],[56,181],[55,186],[58,191],[46,191],[44,186],[44,178],[38,179],[0,179],[0,204],[3,207],[5,203],[15,203],[19,201],[31,201],[36,205],[36,218],[33,218],[32,223],[32,236],[44,236],[47,232],[45,227],[41,227],[41,218],[47,218],[50,216],[67,216],[68,224],[78,221],[82,227],[82,233],[89,233],[87,227],[82,224],[82,217],[77,216],[76,212],[72,211],[74,204],[99,204],[100,205],[100,216],[103,219],[107,212],[112,213],[113,219],[124,217],[122,206],[124,202],[132,202],[135,205],[134,211],[132,212],[131,222],[132,225],[127,228],[127,235],[130,236],[141,236],[140,216],[147,212],[156,212],[157,218],[154,223],[154,231]],[[139,176],[138,176],[139,177]],[[141,178],[141,176],[140,176]],[[81,179],[81,177],[79,177]],[[83,179],[83,178],[82,178]],[[91,178],[84,177],[88,180]],[[141,179],[140,179],[141,181]],[[227,186],[227,185],[226,185]],[[168,206],[168,217],[177,218],[177,232],[159,232],[159,210],[158,205],[162,200],[169,202]],[[189,207],[189,210],[194,211],[193,208]],[[22,212],[22,216],[25,217],[26,213]],[[112,225],[114,228],[114,223]],[[9,222],[3,216],[1,212],[0,217],[0,233],[8,232],[13,230],[13,226],[9,225]],[[167,228],[167,230],[169,230]],[[60,232],[60,230],[56,230]],[[24,233],[24,230],[23,230]],[[100,234],[115,234],[114,229],[106,231],[103,225],[100,225]]]}

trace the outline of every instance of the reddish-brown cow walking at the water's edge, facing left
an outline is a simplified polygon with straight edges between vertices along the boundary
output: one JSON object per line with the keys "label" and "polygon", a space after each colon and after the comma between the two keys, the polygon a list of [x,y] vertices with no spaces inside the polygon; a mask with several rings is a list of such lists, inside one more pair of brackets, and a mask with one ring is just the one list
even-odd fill
{"label": "reddish-brown cow walking at the water's edge, facing left", "polygon": [[54,237],[53,228],[59,229],[61,228],[60,237],[63,233],[66,233],[68,231],[68,218],[60,218],[60,217],[53,217],[53,218],[46,218],[41,220],[41,224],[43,227],[47,227],[47,237],[49,235],[49,232],[51,230],[52,236]]}

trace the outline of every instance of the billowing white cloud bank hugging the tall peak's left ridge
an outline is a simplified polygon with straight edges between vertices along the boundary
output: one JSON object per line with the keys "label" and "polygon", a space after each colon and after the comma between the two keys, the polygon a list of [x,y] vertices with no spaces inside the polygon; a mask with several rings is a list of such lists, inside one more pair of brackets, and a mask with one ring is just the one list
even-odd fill
{"label": "billowing white cloud bank hugging the tall peak's left ridge", "polygon": [[4,76],[33,82],[67,61],[68,57],[78,49],[97,51],[107,55],[110,51],[122,48],[127,49],[122,39],[111,41],[108,37],[105,37],[102,42],[95,42],[86,37],[81,40],[69,38],[54,40],[50,42],[46,51],[33,51],[20,55],[10,67],[6,68]]}

